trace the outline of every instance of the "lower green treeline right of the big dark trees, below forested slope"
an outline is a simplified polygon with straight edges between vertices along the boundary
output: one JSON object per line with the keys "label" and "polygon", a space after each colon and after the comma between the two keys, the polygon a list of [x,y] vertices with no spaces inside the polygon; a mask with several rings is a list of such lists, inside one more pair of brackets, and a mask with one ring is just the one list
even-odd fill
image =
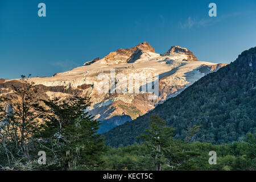
{"label": "lower green treeline right of the big dark trees, below forested slope", "polygon": [[[230,144],[188,142],[199,126],[189,129],[185,140],[173,136],[174,129],[167,127],[157,115],[151,115],[150,127],[142,134],[141,144],[118,148],[109,147],[104,155],[107,170],[255,170],[255,134],[247,134],[243,141]],[[216,153],[213,164],[210,151]],[[209,162],[210,160],[210,162]]]}

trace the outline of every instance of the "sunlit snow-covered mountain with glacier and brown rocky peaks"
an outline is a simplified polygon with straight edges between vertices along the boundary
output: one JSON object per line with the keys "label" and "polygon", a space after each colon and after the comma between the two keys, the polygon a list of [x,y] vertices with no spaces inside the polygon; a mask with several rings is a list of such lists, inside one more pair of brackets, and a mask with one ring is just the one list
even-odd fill
{"label": "sunlit snow-covered mountain with glacier and brown rocky peaks", "polygon": [[[160,55],[149,43],[143,42],[132,48],[120,48],[110,52],[102,59],[97,57],[71,71],[56,73],[52,77],[30,78],[30,80],[39,86],[42,91],[41,97],[46,99],[53,97],[65,99],[71,94],[89,96],[92,105],[88,110],[95,119],[102,121],[100,132],[103,132],[146,114],[156,105],[179,94],[199,78],[225,65],[198,61],[191,51],[179,46],[173,46]],[[149,100],[148,92],[100,93],[98,88],[101,81],[98,80],[98,76],[104,73],[110,77],[110,71],[113,69],[115,75],[122,73],[127,77],[131,73],[137,74],[139,78],[144,78],[148,74],[159,75],[159,97]],[[146,81],[147,84],[151,82]],[[19,84],[19,82],[0,80],[0,94],[11,93],[11,84]],[[129,86],[128,82],[127,85]],[[142,82],[139,82],[140,88],[142,85]]]}

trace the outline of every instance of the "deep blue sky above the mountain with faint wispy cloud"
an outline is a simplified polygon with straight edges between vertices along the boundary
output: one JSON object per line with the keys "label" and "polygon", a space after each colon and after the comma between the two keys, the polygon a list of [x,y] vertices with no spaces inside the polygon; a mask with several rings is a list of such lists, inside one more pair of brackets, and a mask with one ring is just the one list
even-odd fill
{"label": "deep blue sky above the mountain with faint wispy cloud", "polygon": [[181,46],[230,63],[256,46],[256,1],[0,0],[0,78],[52,76],[143,41],[158,53]]}

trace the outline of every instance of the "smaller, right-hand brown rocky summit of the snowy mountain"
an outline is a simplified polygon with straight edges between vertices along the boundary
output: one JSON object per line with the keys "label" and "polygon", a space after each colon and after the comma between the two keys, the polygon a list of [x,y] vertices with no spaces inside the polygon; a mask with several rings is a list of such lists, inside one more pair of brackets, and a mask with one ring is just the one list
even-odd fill
{"label": "smaller, right-hand brown rocky summit of the snowy mountain", "polygon": [[187,55],[187,59],[184,59],[184,61],[199,61],[191,51],[189,51],[187,48],[179,46],[172,46],[166,53],[163,54],[163,56],[170,56],[175,54]]}

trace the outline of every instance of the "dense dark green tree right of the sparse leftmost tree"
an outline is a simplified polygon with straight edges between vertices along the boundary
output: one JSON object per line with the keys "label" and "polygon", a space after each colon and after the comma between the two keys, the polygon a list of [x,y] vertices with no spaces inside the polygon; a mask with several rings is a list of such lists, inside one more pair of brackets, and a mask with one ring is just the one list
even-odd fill
{"label": "dense dark green tree right of the sparse leftmost tree", "polygon": [[48,109],[40,109],[45,117],[38,142],[48,151],[48,167],[91,170],[100,166],[106,148],[104,139],[97,133],[100,122],[85,112],[89,98],[43,102]]}

